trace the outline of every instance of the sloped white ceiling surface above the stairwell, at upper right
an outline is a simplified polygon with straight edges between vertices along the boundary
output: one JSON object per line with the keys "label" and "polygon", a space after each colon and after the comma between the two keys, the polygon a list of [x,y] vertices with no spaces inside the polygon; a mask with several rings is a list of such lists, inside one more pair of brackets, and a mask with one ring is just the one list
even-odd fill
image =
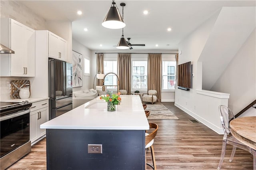
{"label": "sloped white ceiling surface above the stairwell, at upper right", "polygon": [[202,89],[210,90],[256,26],[255,7],[223,7],[198,61]]}

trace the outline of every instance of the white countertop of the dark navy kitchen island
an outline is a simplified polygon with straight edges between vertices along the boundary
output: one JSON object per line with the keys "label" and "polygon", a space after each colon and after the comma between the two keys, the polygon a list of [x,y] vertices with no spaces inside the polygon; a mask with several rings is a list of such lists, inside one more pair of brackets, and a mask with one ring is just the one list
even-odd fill
{"label": "white countertop of the dark navy kitchen island", "polygon": [[121,95],[116,111],[107,111],[107,103],[99,97],[64,113],[42,125],[50,129],[148,130],[140,97]]}

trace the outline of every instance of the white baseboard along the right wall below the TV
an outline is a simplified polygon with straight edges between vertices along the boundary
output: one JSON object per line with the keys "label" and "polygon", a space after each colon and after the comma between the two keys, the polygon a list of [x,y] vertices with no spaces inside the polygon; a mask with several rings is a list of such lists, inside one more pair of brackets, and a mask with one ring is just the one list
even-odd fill
{"label": "white baseboard along the right wall below the TV", "polygon": [[218,128],[215,125],[213,125],[212,123],[210,123],[209,121],[206,121],[204,118],[196,115],[195,113],[193,113],[192,111],[184,108],[183,106],[179,105],[178,103],[174,103],[174,105],[178,108],[180,108],[182,111],[188,113],[188,115],[194,117],[197,121],[199,121],[200,123],[206,125],[208,128],[214,130],[216,133],[218,134],[224,134],[223,129],[222,128]]}

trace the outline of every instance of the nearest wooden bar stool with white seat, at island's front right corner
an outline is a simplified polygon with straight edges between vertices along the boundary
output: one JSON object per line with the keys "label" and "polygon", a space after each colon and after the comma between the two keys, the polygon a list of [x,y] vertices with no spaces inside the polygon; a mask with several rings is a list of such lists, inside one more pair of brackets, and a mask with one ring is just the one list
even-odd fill
{"label": "nearest wooden bar stool with white seat, at island's front right corner", "polygon": [[[154,170],[156,170],[156,160],[155,160],[155,153],[154,153],[154,147],[153,147],[153,143],[154,143],[154,138],[156,136],[157,130],[158,130],[158,125],[156,123],[149,123],[149,128],[150,130],[152,128],[154,128],[154,130],[151,133],[145,133],[145,148],[149,148],[151,150],[151,156],[152,156],[152,162],[153,162],[153,166],[146,163],[148,166],[150,166],[151,168],[153,168]],[[146,155],[146,153],[145,153]]]}

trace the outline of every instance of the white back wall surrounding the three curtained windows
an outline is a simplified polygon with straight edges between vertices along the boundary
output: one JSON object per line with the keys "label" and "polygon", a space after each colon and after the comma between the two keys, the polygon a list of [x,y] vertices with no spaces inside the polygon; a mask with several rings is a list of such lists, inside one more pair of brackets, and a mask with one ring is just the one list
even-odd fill
{"label": "white back wall surrounding the three curtained windows", "polygon": [[[131,54],[131,58],[141,58],[141,59],[147,59],[148,58],[148,54],[147,53],[178,53],[178,51],[171,51],[171,50],[109,50],[109,51],[92,51],[92,55],[91,55],[91,60],[90,60],[90,65],[91,65],[91,76],[90,76],[90,87],[92,88],[93,86],[93,81],[94,81],[94,75],[96,75],[97,72],[97,67],[96,67],[96,54],[95,53],[105,53],[104,54],[104,58],[113,58],[118,56],[118,52],[120,53],[145,53],[145,54]],[[112,54],[111,54],[112,53]],[[171,58],[170,55],[168,54],[162,54],[162,57],[166,57],[166,58]],[[95,81],[96,83],[96,81]],[[133,91],[132,91],[133,92]],[[146,93],[147,91],[140,91],[140,94],[142,93]],[[162,102],[167,102],[167,101],[171,101],[174,102],[174,97],[175,97],[175,91],[174,90],[168,90],[168,91],[162,91],[161,95],[162,95]]]}

